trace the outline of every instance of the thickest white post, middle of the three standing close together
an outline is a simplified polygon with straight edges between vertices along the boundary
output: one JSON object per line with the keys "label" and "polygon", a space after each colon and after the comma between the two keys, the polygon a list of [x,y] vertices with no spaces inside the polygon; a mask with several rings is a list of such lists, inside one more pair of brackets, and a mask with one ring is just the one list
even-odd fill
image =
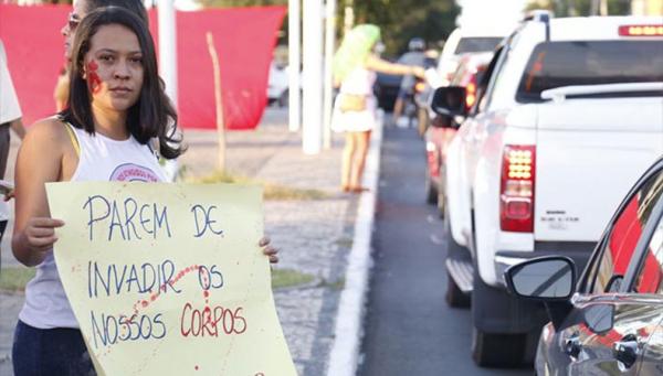
{"label": "thickest white post, middle of the three standing close together", "polygon": [[304,97],[302,98],[302,147],[306,154],[317,154],[323,130],[323,0],[304,1]]}

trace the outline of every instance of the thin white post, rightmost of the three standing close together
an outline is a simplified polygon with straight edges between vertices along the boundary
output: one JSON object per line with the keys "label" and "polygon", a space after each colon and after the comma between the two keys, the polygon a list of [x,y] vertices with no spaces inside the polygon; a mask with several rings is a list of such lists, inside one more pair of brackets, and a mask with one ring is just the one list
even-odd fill
{"label": "thin white post, rightmost of the three standing close together", "polygon": [[323,146],[332,148],[332,106],[334,99],[334,84],[332,65],[334,60],[334,40],[336,25],[336,0],[327,0],[325,6],[325,87],[323,96]]}

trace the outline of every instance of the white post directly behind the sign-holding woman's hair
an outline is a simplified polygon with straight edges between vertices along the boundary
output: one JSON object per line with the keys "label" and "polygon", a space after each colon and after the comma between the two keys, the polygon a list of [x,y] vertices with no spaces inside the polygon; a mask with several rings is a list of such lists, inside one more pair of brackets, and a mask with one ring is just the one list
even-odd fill
{"label": "white post directly behind the sign-holding woman's hair", "polygon": [[[159,23],[159,74],[166,84],[166,95],[177,110],[177,24],[173,0],[158,0]],[[177,160],[168,160],[166,175],[175,181],[179,166]]]}

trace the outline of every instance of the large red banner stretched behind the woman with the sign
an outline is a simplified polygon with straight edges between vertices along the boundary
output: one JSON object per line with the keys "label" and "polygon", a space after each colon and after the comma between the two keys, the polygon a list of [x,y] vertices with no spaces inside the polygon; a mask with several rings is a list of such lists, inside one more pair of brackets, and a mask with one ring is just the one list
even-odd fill
{"label": "large red banner stretched behind the woman with the sign", "polygon": [[[53,89],[64,64],[60,32],[71,7],[0,4],[0,39],[23,110],[23,122],[53,115]],[[214,76],[206,34],[219,54],[228,129],[253,129],[266,104],[266,85],[285,7],[177,12],[178,112],[185,128],[214,129]],[[150,30],[158,43],[155,10]]]}

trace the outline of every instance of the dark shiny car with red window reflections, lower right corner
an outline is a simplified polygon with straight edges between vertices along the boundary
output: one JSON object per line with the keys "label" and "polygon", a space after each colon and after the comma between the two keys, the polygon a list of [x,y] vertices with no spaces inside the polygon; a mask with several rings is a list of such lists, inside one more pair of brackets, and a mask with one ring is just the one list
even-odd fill
{"label": "dark shiny car with red window reflections, lower right corner", "polygon": [[538,375],[663,373],[662,193],[660,159],[621,203],[578,281],[573,261],[560,256],[506,270],[509,291],[544,302],[550,318]]}

